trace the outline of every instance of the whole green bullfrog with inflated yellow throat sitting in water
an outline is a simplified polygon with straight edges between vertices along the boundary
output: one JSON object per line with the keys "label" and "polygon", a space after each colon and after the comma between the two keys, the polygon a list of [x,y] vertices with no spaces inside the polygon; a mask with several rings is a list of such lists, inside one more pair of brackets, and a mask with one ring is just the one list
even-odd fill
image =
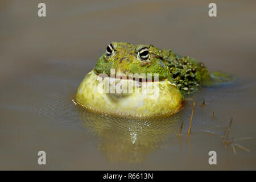
{"label": "whole green bullfrog with inflated yellow throat sitting in water", "polygon": [[204,63],[170,49],[112,42],[82,80],[76,102],[98,113],[124,117],[172,115],[201,86],[232,81],[224,72],[209,73]]}

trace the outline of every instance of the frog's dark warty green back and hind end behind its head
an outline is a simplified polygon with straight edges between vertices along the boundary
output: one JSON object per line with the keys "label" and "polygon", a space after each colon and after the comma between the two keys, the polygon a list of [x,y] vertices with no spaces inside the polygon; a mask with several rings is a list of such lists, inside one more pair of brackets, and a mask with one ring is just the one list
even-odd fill
{"label": "frog's dark warty green back and hind end behind its head", "polygon": [[180,56],[170,49],[159,49],[170,72],[170,81],[175,82],[186,95],[198,90],[200,86],[218,86],[230,83],[234,76],[225,72],[209,73],[204,63],[189,56]]}

